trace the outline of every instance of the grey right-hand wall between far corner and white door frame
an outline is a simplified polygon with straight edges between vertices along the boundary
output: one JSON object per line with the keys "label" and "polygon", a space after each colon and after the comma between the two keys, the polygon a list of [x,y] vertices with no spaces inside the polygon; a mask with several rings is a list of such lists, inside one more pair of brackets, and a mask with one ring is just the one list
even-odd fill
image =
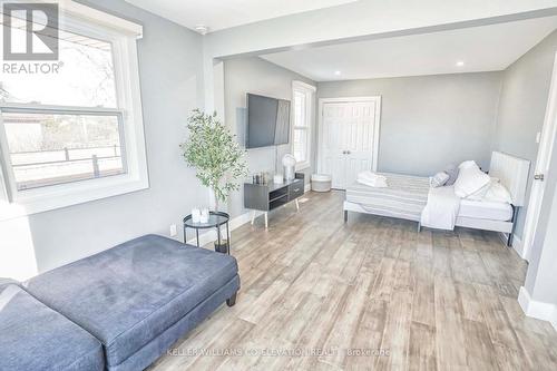
{"label": "grey right-hand wall between far corner and white door frame", "polygon": [[[504,75],[499,117],[494,148],[529,159],[534,168],[538,154],[536,135],[541,131],[551,82],[557,31],[512,64]],[[531,177],[528,184],[530,194]],[[525,207],[517,221],[516,234],[521,237]]]}

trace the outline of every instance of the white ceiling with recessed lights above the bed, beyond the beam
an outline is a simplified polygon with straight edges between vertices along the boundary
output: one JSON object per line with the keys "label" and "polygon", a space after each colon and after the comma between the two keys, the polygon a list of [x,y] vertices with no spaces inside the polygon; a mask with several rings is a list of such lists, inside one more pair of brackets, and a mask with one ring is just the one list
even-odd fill
{"label": "white ceiling with recessed lights above the bed, beyond the beam", "polygon": [[315,81],[494,71],[506,69],[555,29],[557,17],[547,17],[262,58]]}

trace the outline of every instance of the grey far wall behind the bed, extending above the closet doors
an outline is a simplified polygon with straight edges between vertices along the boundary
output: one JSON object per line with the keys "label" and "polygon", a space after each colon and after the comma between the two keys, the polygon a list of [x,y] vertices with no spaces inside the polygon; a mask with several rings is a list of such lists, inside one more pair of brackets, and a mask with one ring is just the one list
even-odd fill
{"label": "grey far wall behind the bed, extending above the closet doors", "polygon": [[500,72],[320,82],[319,98],[381,96],[379,170],[432,175],[489,165]]}

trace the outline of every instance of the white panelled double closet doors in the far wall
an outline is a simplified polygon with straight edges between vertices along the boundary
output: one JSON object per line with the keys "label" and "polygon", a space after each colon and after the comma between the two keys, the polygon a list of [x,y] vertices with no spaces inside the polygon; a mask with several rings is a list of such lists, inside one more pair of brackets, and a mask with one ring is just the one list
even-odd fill
{"label": "white panelled double closet doors in the far wall", "polygon": [[344,189],[358,173],[377,169],[380,98],[321,100],[320,173]]}

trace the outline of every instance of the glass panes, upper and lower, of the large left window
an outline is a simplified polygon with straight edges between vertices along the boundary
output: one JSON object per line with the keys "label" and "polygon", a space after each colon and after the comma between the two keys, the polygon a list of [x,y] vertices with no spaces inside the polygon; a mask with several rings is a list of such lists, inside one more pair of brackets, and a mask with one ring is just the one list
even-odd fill
{"label": "glass panes, upper and lower, of the large left window", "polygon": [[59,48],[57,74],[0,76],[18,191],[126,172],[111,43],[60,31]]}

